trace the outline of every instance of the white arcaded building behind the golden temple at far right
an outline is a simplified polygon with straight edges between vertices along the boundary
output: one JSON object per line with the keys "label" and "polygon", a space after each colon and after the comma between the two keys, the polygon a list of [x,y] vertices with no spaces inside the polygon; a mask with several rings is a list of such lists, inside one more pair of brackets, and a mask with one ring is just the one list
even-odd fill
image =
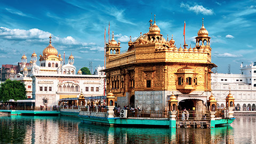
{"label": "white arcaded building behind the golden temple at far right", "polygon": [[241,74],[212,74],[212,92],[218,104],[226,106],[229,89],[235,98],[235,106],[241,110],[255,110],[256,62],[241,64]]}

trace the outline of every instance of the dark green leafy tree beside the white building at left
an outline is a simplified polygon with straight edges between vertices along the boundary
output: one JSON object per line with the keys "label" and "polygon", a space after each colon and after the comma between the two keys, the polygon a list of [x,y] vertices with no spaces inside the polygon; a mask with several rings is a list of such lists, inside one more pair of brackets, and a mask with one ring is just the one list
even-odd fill
{"label": "dark green leafy tree beside the white building at left", "polygon": [[10,99],[14,100],[25,100],[26,97],[26,87],[25,84],[20,81],[11,81],[7,79],[0,87],[0,101],[8,101]]}

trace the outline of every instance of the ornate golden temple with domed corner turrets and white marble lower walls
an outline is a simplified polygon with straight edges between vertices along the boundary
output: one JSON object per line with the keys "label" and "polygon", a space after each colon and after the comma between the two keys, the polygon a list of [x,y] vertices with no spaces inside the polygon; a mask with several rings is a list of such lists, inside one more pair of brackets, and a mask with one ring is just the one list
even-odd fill
{"label": "ornate golden temple with domed corner turrets and white marble lower walls", "polygon": [[173,36],[166,41],[156,20],[152,22],[148,33],[141,34],[134,42],[130,37],[129,49],[124,53],[120,53],[120,43],[115,41],[113,32],[105,47],[107,92],[113,92],[120,106],[167,110],[166,100],[174,90],[179,95],[178,101],[199,99],[204,102],[194,101],[194,107],[201,107],[207,95],[210,96],[207,92],[211,91],[211,69],[216,67],[211,62],[210,37],[204,24],[197,33],[194,48],[188,49],[184,44],[178,49]]}

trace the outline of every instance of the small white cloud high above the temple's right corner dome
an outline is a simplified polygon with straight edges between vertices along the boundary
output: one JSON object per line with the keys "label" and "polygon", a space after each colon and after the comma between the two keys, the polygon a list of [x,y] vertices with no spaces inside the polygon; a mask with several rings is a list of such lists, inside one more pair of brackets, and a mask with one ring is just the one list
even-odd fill
{"label": "small white cloud high above the temple's right corner dome", "polygon": [[184,7],[185,9],[188,9],[189,11],[193,11],[196,14],[199,14],[199,13],[201,13],[203,15],[212,15],[212,14],[214,14],[213,10],[206,9],[202,5],[189,6],[188,4],[181,3],[180,7]]}

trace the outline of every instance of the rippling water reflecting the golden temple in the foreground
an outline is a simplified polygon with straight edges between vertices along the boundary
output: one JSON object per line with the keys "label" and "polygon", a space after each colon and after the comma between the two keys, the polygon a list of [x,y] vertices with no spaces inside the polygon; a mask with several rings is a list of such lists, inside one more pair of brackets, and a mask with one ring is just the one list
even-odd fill
{"label": "rippling water reflecting the golden temple in the foreground", "polygon": [[108,127],[65,116],[0,116],[0,143],[256,143],[256,116],[212,129]]}

